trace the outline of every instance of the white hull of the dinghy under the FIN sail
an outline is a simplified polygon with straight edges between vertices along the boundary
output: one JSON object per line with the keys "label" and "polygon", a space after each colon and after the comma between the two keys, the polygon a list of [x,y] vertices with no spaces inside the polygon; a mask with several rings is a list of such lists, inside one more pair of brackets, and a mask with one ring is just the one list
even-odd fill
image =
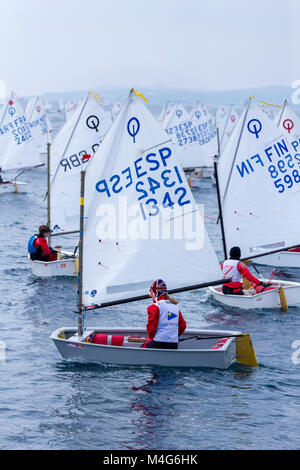
{"label": "white hull of the dinghy under the FIN sail", "polygon": [[[284,289],[288,307],[300,305],[300,283],[287,281],[274,281],[272,286],[276,289],[255,295],[230,295],[223,294],[222,287],[209,287],[210,294],[218,302],[230,307],[243,308],[246,310],[258,308],[281,308],[278,288]],[[245,291],[247,292],[247,291]]]}

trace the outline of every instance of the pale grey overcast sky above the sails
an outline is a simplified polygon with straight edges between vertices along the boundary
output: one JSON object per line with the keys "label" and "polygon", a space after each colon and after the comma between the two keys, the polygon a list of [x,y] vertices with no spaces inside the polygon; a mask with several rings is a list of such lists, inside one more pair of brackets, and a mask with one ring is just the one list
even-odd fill
{"label": "pale grey overcast sky above the sails", "polygon": [[0,0],[0,80],[236,89],[300,79],[300,0]]}

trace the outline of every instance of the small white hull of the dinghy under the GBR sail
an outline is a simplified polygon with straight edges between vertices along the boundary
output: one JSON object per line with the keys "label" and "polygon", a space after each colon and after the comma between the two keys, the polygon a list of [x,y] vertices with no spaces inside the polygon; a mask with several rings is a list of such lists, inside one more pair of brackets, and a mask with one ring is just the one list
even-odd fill
{"label": "small white hull of the dinghy under the GBR sail", "polygon": [[32,273],[38,277],[76,276],[77,263],[78,258],[67,258],[48,262],[33,261],[29,258]]}

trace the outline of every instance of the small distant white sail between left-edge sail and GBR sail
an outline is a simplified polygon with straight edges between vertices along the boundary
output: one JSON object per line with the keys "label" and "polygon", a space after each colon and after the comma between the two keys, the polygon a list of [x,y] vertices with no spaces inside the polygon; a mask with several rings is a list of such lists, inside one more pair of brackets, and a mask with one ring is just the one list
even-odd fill
{"label": "small distant white sail between left-edge sail and GBR sail", "polygon": [[47,143],[51,143],[52,126],[42,102],[38,96],[27,104],[26,116],[30,123],[31,133],[40,152],[46,152]]}

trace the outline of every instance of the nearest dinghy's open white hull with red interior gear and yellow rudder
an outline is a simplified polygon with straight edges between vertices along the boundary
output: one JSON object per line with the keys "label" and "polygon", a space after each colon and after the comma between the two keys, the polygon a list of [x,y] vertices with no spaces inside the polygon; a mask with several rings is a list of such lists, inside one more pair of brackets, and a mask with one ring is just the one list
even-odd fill
{"label": "nearest dinghy's open white hull with red interior gear and yellow rudder", "polygon": [[138,328],[87,328],[79,337],[74,328],[54,331],[51,339],[64,359],[126,366],[207,367],[232,364],[257,366],[249,338],[239,331],[187,330],[178,349],[141,348],[147,332]]}

